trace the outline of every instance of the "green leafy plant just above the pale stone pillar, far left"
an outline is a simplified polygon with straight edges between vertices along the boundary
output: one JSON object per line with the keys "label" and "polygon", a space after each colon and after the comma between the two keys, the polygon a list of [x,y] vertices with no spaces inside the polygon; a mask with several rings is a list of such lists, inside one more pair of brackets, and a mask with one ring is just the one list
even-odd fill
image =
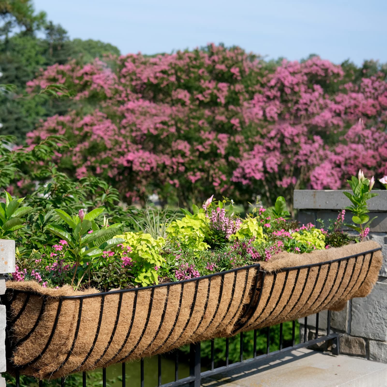
{"label": "green leafy plant just above the pale stone pillar, far left", "polygon": [[14,231],[24,227],[26,219],[23,216],[33,210],[28,206],[20,207],[24,199],[12,199],[5,191],[5,203],[0,203],[0,239],[10,238]]}

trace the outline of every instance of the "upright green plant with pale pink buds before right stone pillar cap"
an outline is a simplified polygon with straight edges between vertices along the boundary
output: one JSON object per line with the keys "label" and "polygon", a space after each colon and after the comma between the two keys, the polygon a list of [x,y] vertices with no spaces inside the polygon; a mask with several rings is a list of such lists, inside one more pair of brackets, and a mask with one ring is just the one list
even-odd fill
{"label": "upright green plant with pale pink buds before right stone pillar cap", "polygon": [[371,222],[377,217],[370,219],[368,214],[367,201],[375,196],[378,196],[377,193],[371,192],[372,187],[375,183],[375,180],[372,176],[371,180],[368,180],[364,177],[364,174],[359,170],[358,177],[352,176],[351,180],[347,180],[349,186],[352,189],[353,194],[349,192],[344,192],[344,195],[351,200],[352,205],[346,207],[346,210],[349,210],[353,213],[352,221],[354,224],[345,224],[346,226],[358,231],[360,234],[360,240],[363,241],[365,236],[368,234],[367,229]]}

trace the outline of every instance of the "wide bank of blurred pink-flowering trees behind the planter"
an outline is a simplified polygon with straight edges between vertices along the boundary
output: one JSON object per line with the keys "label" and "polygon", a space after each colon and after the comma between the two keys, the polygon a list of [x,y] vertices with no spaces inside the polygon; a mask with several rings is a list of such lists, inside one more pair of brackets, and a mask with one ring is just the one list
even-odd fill
{"label": "wide bank of blurred pink-flowering trees behind the planter", "polygon": [[102,176],[127,202],[155,190],[182,204],[230,191],[271,201],[295,187],[346,187],[359,166],[387,175],[387,84],[371,62],[359,74],[319,57],[271,66],[209,45],[57,64],[27,87],[58,83],[75,92],[74,110],[41,122],[27,143],[67,137],[74,146],[58,166],[70,158],[78,178]]}

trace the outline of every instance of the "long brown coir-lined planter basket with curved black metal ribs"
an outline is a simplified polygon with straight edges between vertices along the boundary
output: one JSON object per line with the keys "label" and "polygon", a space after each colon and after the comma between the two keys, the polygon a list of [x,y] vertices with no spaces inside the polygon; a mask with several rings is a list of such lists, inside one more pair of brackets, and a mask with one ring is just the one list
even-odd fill
{"label": "long brown coir-lined planter basket with curved black metal ribs", "polygon": [[58,378],[337,310],[371,291],[382,264],[380,250],[370,241],[303,255],[281,253],[210,276],[106,293],[9,281],[2,298],[7,371]]}

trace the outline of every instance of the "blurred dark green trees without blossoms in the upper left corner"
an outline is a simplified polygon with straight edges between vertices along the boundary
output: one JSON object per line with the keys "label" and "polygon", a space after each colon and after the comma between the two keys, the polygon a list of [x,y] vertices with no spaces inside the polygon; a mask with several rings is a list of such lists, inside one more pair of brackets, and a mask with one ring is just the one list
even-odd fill
{"label": "blurred dark green trees without blossoms in the upper left corner", "polygon": [[[109,43],[70,40],[60,24],[46,22],[45,12],[35,12],[31,0],[0,0],[1,21],[0,83],[16,86],[13,92],[0,95],[1,133],[14,135],[19,143],[39,119],[63,115],[72,108],[66,98],[39,96],[32,99],[26,95],[26,82],[34,79],[40,68],[63,64],[73,58],[84,64],[104,54],[120,55],[118,48]],[[19,32],[12,34],[15,28],[19,28]],[[38,38],[38,31],[44,32],[45,38]]]}

